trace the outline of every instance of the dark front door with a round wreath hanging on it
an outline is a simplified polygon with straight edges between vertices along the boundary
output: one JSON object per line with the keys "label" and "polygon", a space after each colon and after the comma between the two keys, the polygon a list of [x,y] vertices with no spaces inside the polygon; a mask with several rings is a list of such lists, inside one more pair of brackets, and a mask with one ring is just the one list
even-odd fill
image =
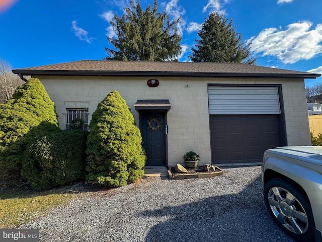
{"label": "dark front door with a round wreath hanging on it", "polygon": [[146,152],[145,166],[166,166],[166,113],[142,112],[140,128],[142,147]]}

